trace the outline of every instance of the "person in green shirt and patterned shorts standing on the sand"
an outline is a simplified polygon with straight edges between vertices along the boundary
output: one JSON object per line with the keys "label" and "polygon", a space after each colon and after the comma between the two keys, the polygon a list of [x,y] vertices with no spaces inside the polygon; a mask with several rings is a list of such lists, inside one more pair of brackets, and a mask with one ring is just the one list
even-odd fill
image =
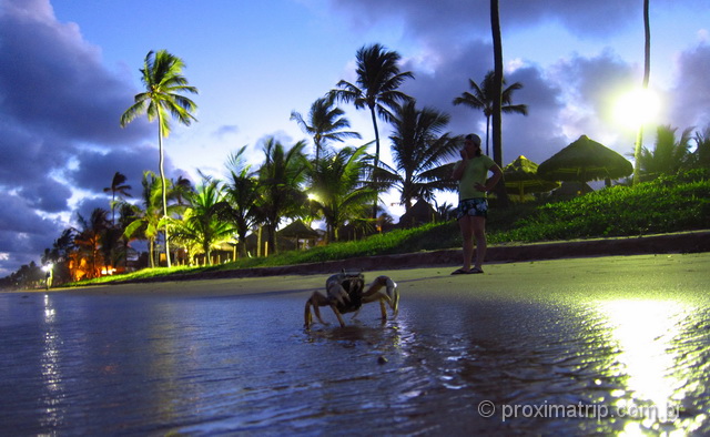
{"label": "person in green shirt and patterned shorts standing on the sand", "polygon": [[[486,180],[488,172],[493,177]],[[462,161],[454,166],[452,177],[458,181],[458,226],[464,238],[464,266],[452,272],[452,275],[484,273],[483,262],[486,256],[486,216],[488,202],[486,192],[493,190],[503,171],[494,160],[480,153],[480,136],[475,133],[466,135]],[[474,256],[474,238],[476,238],[476,263],[471,268]]]}

